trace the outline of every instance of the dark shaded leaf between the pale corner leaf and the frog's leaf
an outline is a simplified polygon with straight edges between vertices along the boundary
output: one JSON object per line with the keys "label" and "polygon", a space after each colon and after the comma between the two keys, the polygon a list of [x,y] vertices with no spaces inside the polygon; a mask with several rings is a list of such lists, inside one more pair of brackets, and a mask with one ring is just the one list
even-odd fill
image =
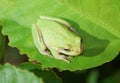
{"label": "dark shaded leaf between the pale corner leaf and the frog's leaf", "polygon": [[58,76],[56,76],[53,71],[48,69],[42,69],[42,67],[38,64],[26,62],[20,64],[18,67],[34,72],[35,75],[42,78],[44,83],[62,83],[62,80],[58,78]]}

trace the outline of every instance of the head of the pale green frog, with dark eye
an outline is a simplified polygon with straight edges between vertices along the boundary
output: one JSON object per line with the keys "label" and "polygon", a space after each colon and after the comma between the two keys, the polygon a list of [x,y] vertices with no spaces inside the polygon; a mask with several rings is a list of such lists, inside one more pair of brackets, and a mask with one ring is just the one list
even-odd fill
{"label": "head of the pale green frog, with dark eye", "polygon": [[59,48],[58,53],[65,56],[78,56],[82,53],[82,45],[80,37],[76,37],[74,40],[65,44],[62,48]]}

